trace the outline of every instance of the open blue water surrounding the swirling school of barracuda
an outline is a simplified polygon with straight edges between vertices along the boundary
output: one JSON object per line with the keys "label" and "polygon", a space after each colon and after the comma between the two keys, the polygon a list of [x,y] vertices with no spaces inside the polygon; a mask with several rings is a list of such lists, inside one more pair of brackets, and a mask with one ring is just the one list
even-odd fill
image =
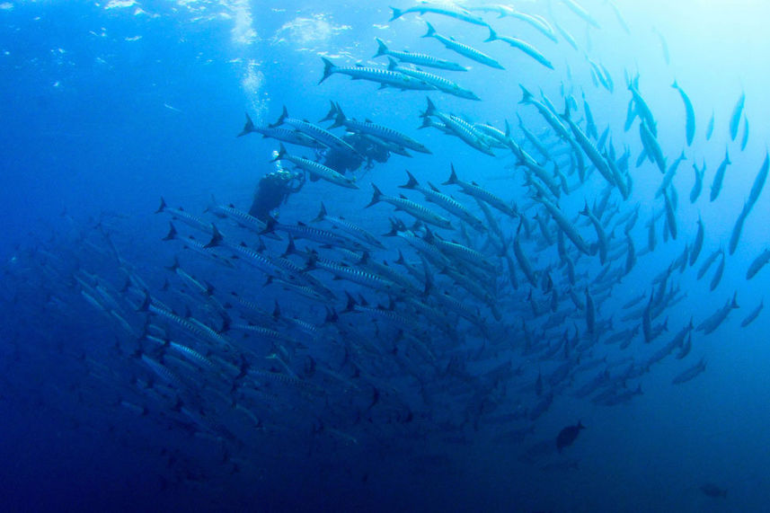
{"label": "open blue water surrounding the swirling school of barracuda", "polygon": [[[296,117],[320,119],[329,100],[339,101],[349,116],[371,117],[419,136],[434,155],[417,155],[409,161],[394,157],[360,178],[361,191],[338,191],[323,182],[309,184],[302,195],[290,199],[282,218],[312,217],[318,199],[327,198],[333,214],[358,217],[361,224],[382,233],[388,208],[374,207],[360,214],[368,201],[368,183],[394,190],[405,179],[405,166],[420,172],[425,181],[438,182],[446,179],[449,163],[454,162],[462,176],[481,181],[506,198],[521,193],[520,180],[500,180],[512,173],[506,168],[512,158],[490,159],[436,131],[416,130],[418,114],[424,109],[423,94],[380,92],[374,84],[350,83],[342,76],[316,85],[322,72],[319,55],[347,63],[366,61],[374,54],[376,36],[390,41],[394,49],[451,57],[437,41],[420,40],[424,28],[413,15],[376,27],[387,24],[386,4],[357,8],[254,2],[239,7],[237,3],[156,2],[141,4],[146,13],[136,13],[139,4],[111,9],[90,2],[11,4],[12,9],[0,11],[0,51],[4,52],[0,55],[0,205],[4,207],[0,261],[9,269],[13,256],[20,254],[19,246],[33,251],[50,240],[76,244],[74,237],[68,238],[71,219],[77,225],[93,226],[90,219],[109,212],[119,215],[124,256],[160,285],[161,279],[152,273],[168,265],[173,253],[173,248],[158,243],[167,228],[165,219],[152,214],[160,196],[197,213],[212,193],[222,202],[247,208],[259,177],[272,169],[268,161],[276,144],[255,136],[236,139],[243,111],[264,123],[275,119],[284,104]],[[650,12],[624,5],[633,29],[627,37],[601,2],[585,4],[605,26],[592,32],[589,53],[612,71],[613,95],[590,85],[584,57],[563,41],[553,45],[538,39],[527,26],[498,22],[506,27],[501,32],[520,29],[518,35],[547,50],[557,67],[548,72],[503,43],[482,43],[487,34],[480,27],[438,19],[442,33],[463,34],[468,43],[499,57],[508,69],[498,72],[474,66],[470,73],[452,75],[483,102],[441,96],[437,103],[443,110],[496,126],[502,126],[503,119],[514,123],[519,112],[528,123],[542,128],[533,110],[518,107],[518,84],[533,90],[542,87],[558,106],[565,64],[570,63],[574,84],[586,90],[595,117],[601,119],[600,129],[611,124],[616,145],[630,145],[635,160],[640,149],[636,128],[628,134],[622,131],[628,101],[623,74],[624,69],[631,73],[639,69],[642,91],[649,94],[664,150],[672,159],[684,144],[681,102],[669,87],[676,77],[693,98],[698,116],[698,136],[688,152],[691,158],[675,180],[680,237],[691,240],[695,219],[702,215],[707,227],[703,259],[729,240],[732,223],[764,158],[767,134],[761,121],[768,109],[762,79],[766,76],[757,75],[740,58],[766,49],[766,41],[759,34],[756,40],[736,36],[732,44],[747,45],[745,52],[714,54],[707,45],[712,44],[707,23],[703,32],[692,28],[695,23],[677,31],[675,16],[655,11],[655,5]],[[234,40],[234,16],[239,9],[243,13],[244,7],[251,8],[250,25],[257,34],[250,43]],[[532,12],[546,13],[542,5],[534,5]],[[563,8],[558,18],[586,45],[580,20]],[[671,66],[659,53],[657,36],[650,31],[653,25],[668,38]],[[735,30],[735,34],[745,32]],[[127,40],[136,36],[141,39]],[[698,38],[703,38],[700,45]],[[699,47],[702,53],[688,53]],[[710,61],[708,55],[713,56]],[[736,66],[745,73],[738,75]],[[244,82],[250,73],[252,82]],[[253,87],[255,80],[259,87]],[[718,204],[708,204],[712,173],[728,140],[727,119],[741,88],[748,92],[752,137],[743,155],[731,146],[734,164],[721,198]],[[712,110],[717,112],[717,129],[706,143],[704,125]],[[704,158],[708,162],[704,196],[695,208],[686,199],[694,156],[699,164]],[[637,173],[635,178],[636,199],[642,201],[659,183],[657,174]],[[328,199],[330,194],[333,199]],[[580,205],[583,197],[574,202]],[[766,315],[747,330],[740,330],[739,322],[768,289],[767,270],[752,282],[744,278],[748,262],[766,246],[768,205],[766,192],[749,217],[721,287],[708,294],[706,280],[683,278],[686,301],[669,312],[672,325],[677,326],[672,331],[678,330],[691,315],[697,323],[739,290],[739,314],[719,332],[696,341],[698,354],[709,361],[704,376],[672,388],[671,376],[680,367],[666,362],[645,378],[644,395],[631,405],[606,409],[568,400],[538,424],[538,433],[544,436],[555,435],[579,417],[589,426],[581,434],[582,445],[575,447],[580,459],[577,473],[531,474],[516,462],[516,455],[500,454],[493,445],[457,447],[449,455],[451,464],[424,468],[390,460],[385,449],[372,455],[352,448],[349,454],[330,453],[324,463],[339,471],[331,473],[317,460],[305,464],[299,457],[302,451],[276,457],[275,451],[266,448],[263,473],[231,477],[208,472],[216,467],[218,456],[195,438],[171,429],[148,430],[146,424],[128,416],[105,419],[106,410],[98,398],[86,400],[86,406],[68,402],[68,376],[73,369],[59,365],[49,349],[98,348],[110,338],[109,326],[94,320],[87,305],[73,305],[65,316],[48,316],[49,310],[40,306],[46,298],[36,296],[34,288],[16,296],[13,304],[4,296],[8,306],[2,336],[22,340],[28,348],[22,366],[11,349],[4,349],[0,357],[5,371],[0,376],[4,509],[762,510],[770,499],[765,472],[770,449],[764,443],[770,421],[765,401],[770,385],[766,379],[770,353],[764,343],[768,325]],[[642,211],[649,217],[651,204],[643,203]],[[644,240],[638,232],[637,250]],[[681,245],[668,245],[641,261],[642,269],[627,283],[624,297],[642,291],[650,276],[665,269],[679,252]],[[41,397],[37,391],[50,390],[42,383],[57,384],[61,395]],[[114,429],[115,423],[120,429]],[[189,458],[193,475],[183,485],[168,486],[157,478],[167,464],[161,455],[164,447],[176,447]],[[294,447],[282,449],[288,452]],[[364,474],[370,476],[367,482],[362,480]],[[727,500],[715,501],[698,491],[710,481],[730,490]]]}

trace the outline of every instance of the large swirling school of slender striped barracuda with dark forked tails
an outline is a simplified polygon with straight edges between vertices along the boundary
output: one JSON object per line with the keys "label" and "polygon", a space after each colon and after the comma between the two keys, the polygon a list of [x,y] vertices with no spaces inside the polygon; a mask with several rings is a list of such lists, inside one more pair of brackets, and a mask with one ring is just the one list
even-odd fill
{"label": "large swirling school of slender striped barracuda with dark forked tails", "polygon": [[[627,31],[615,5],[606,6]],[[578,16],[592,30],[606,30],[572,0],[557,7],[560,17]],[[79,296],[111,326],[102,350],[69,355],[84,369],[81,394],[110,396],[109,408],[121,414],[214,440],[233,465],[247,464],[237,456],[246,448],[276,438],[309,447],[314,440],[376,447],[389,438],[421,437],[513,445],[522,459],[547,470],[554,464],[543,458],[555,453],[555,438],[538,431],[538,420],[562,398],[606,407],[633,402],[664,360],[680,360],[672,386],[688,386],[704,373],[709,355],[702,340],[739,315],[738,293],[717,288],[762,193],[770,158],[757,161],[757,178],[729,243],[710,240],[700,219],[695,238],[682,240],[677,204],[689,199],[711,208],[709,200],[718,201],[730,181],[730,153],[747,145],[745,97],[730,119],[723,160],[708,166],[690,148],[695,137],[712,137],[714,121],[697,129],[682,84],[675,82],[671,92],[683,103],[684,149],[667,155],[658,127],[668,120],[645,102],[643,77],[629,73],[621,87],[589,57],[594,87],[628,98],[623,132],[601,130],[602,120],[576,84],[562,84],[558,99],[522,85],[520,102],[501,106],[518,124],[490,126],[473,118],[483,94],[461,86],[462,76],[473,74],[474,66],[507,73],[492,57],[506,51],[524,52],[532,66],[553,69],[557,65],[538,45],[547,48],[551,40],[577,49],[575,38],[553,15],[508,6],[416,4],[394,8],[391,22],[397,27],[399,19],[415,15],[429,20],[420,47],[426,53],[376,40],[370,61],[376,64],[327,57],[318,63],[324,84],[352,79],[357,93],[376,94],[366,86],[373,82],[427,95],[425,110],[414,112],[411,134],[359,120],[367,112],[348,117],[353,113],[344,101],[333,101],[324,119],[334,128],[306,120],[317,119],[325,105],[317,112],[288,105],[270,126],[254,126],[247,114],[241,134],[276,139],[276,153],[257,155],[261,162],[273,158],[293,166],[332,194],[338,187],[355,190],[362,212],[381,219],[379,233],[335,217],[331,196],[318,202],[317,217],[299,224],[263,223],[213,198],[205,210],[162,199],[155,219],[165,217],[168,234],[158,244],[173,244],[178,255],[166,270],[124,258],[114,243],[119,235],[104,219],[96,229],[83,228],[80,243],[66,250],[71,258],[55,242],[20,254],[25,264],[13,272],[48,291],[51,312],[68,310]],[[464,38],[442,33],[447,16],[475,26]],[[506,35],[495,28],[501,18],[527,23],[544,39]],[[433,40],[447,50],[439,54]],[[465,111],[443,110],[445,94],[466,99]],[[542,122],[527,127],[525,112]],[[478,170],[453,165],[443,183],[410,168],[401,188],[388,190],[377,186],[376,171],[367,181],[355,180],[315,159],[319,148],[355,151],[340,138],[345,131],[394,154],[429,154],[417,140],[425,133],[420,125],[453,137],[451,151],[458,155],[476,152],[491,169],[509,172],[510,184],[482,187],[468,178]],[[249,137],[239,140],[247,144]],[[491,155],[509,155],[515,164],[503,169]],[[686,179],[685,161],[695,169]],[[678,184],[692,181],[691,188],[677,190],[675,177]],[[634,181],[659,187],[638,198]],[[677,244],[680,256],[645,270],[644,290],[625,289],[626,277],[662,243]],[[755,256],[748,280],[763,272],[770,248]],[[688,301],[679,286],[686,273],[708,282],[703,288],[717,306],[669,317],[674,305],[681,309]],[[155,283],[158,276],[163,287]],[[234,280],[242,287],[219,285]],[[741,326],[753,323],[763,305],[741,305]]]}

